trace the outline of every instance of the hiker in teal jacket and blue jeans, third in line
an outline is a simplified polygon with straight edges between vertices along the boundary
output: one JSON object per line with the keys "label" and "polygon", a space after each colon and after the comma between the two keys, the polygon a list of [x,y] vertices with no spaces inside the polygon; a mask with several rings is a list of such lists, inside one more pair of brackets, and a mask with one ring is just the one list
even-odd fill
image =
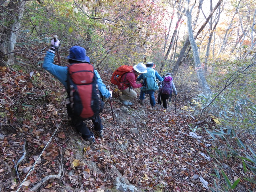
{"label": "hiker in teal jacket and blue jeans, third in line", "polygon": [[156,67],[156,64],[153,62],[148,62],[146,64],[147,67],[147,73],[143,73],[138,77],[138,81],[140,81],[141,79],[143,79],[143,81],[146,81],[147,86],[143,86],[140,88],[140,104],[143,105],[144,104],[144,98],[145,98],[145,93],[149,94],[150,97],[150,104],[152,107],[154,107],[156,105],[156,101],[155,101],[155,90],[158,90],[158,85],[156,83],[156,78],[159,81],[163,81],[164,78],[161,77],[157,71],[154,69]]}

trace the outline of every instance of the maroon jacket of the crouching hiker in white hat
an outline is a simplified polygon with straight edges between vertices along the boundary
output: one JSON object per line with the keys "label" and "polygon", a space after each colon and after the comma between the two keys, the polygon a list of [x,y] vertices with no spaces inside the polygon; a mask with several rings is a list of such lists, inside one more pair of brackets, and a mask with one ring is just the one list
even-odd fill
{"label": "maroon jacket of the crouching hiker in white hat", "polygon": [[132,88],[135,89],[135,88],[140,88],[140,87],[143,86],[141,83],[136,84],[136,79],[137,79],[138,75],[137,75],[136,71],[134,70],[134,68],[132,68],[132,71],[133,71],[133,73],[128,72],[127,75],[126,74],[122,75],[122,77],[121,77],[122,82],[124,81],[124,78],[125,78],[124,87],[123,87],[122,84],[118,85],[119,90],[122,91],[122,90],[125,90],[125,89],[129,88],[129,87],[132,87]]}

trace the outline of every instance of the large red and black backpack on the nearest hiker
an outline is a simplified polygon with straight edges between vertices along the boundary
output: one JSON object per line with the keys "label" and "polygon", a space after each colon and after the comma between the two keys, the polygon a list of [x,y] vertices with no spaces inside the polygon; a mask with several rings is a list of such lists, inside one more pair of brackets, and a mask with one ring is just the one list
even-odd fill
{"label": "large red and black backpack on the nearest hiker", "polygon": [[68,65],[67,108],[83,119],[97,116],[104,107],[100,99],[97,76],[90,63],[72,63]]}

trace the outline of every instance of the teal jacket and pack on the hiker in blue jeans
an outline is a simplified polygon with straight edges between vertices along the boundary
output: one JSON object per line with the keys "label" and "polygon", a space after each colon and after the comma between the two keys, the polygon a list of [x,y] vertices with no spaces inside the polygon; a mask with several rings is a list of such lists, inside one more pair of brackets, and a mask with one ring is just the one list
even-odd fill
{"label": "teal jacket and pack on the hiker in blue jeans", "polygon": [[[141,74],[137,80],[140,81],[141,79],[145,80],[147,79],[147,83],[148,83],[148,86],[147,86],[147,91],[149,90],[158,90],[158,85],[156,83],[156,78],[159,80],[159,81],[164,81],[164,78],[161,77],[157,71],[151,67],[148,67],[147,68],[147,73],[143,73]],[[143,86],[141,87],[141,90],[142,91],[146,91],[146,87]]]}

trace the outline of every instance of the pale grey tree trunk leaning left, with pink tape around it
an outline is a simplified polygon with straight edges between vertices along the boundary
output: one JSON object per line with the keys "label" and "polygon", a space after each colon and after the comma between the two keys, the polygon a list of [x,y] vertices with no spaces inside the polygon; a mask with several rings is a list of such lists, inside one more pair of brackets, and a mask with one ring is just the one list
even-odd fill
{"label": "pale grey tree trunk leaning left, with pink tape around it", "polygon": [[[189,0],[187,0],[187,2],[189,3]],[[192,9],[191,9],[191,11],[192,11]],[[195,42],[195,39],[194,39],[194,36],[193,36],[191,12],[188,9],[188,5],[187,5],[187,10],[186,10],[186,16],[188,18],[188,21],[187,21],[188,22],[188,38],[189,38],[191,47],[193,49],[193,56],[194,56],[194,61],[195,61],[195,71],[196,71],[196,74],[197,74],[197,77],[198,77],[198,81],[201,85],[203,93],[205,95],[210,95],[210,94],[212,94],[212,92],[211,92],[211,89],[209,88],[209,86],[208,86],[208,84],[205,80],[204,72],[203,72],[203,69],[201,67],[196,42]]]}

